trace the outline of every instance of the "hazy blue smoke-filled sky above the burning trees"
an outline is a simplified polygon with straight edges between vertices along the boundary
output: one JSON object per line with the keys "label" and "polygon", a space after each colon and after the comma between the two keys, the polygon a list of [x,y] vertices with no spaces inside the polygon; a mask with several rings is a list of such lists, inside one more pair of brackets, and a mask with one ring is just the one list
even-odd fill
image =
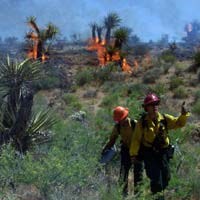
{"label": "hazy blue smoke-filled sky above the burning trees", "polygon": [[169,34],[171,40],[184,36],[184,26],[200,21],[200,0],[0,0],[0,36],[23,39],[30,29],[29,16],[39,27],[57,25],[62,37],[80,34],[91,37],[89,24],[101,24],[110,12],[116,12],[122,25],[128,26],[143,41],[158,40]]}

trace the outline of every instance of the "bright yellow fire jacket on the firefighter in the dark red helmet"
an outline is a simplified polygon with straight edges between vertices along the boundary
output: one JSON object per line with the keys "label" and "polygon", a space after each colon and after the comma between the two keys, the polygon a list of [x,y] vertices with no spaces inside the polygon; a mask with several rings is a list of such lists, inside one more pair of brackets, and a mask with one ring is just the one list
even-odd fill
{"label": "bright yellow fire jacket on the firefighter in the dark red helmet", "polygon": [[[137,156],[140,145],[143,144],[146,147],[152,147],[156,135],[159,133],[160,121],[166,120],[167,129],[177,129],[185,126],[189,113],[180,115],[179,117],[173,117],[172,115],[165,114],[164,116],[160,113],[157,115],[156,122],[153,122],[149,116],[145,116],[144,120],[147,126],[142,127],[142,120],[139,120],[136,124],[133,137],[130,145],[130,156]],[[167,130],[165,130],[163,148],[169,145],[169,137]]]}

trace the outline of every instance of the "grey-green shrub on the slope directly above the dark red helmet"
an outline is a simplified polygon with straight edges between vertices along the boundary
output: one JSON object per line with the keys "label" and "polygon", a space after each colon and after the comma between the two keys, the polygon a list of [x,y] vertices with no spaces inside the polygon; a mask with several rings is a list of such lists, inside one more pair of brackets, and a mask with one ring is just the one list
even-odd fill
{"label": "grey-green shrub on the slope directly above the dark red helmet", "polygon": [[159,76],[162,74],[162,69],[154,68],[147,71],[143,77],[144,83],[155,83]]}

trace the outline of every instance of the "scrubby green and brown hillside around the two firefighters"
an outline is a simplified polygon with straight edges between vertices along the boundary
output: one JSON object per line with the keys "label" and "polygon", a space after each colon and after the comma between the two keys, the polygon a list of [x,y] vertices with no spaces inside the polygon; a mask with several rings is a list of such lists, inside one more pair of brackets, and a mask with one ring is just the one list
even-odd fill
{"label": "scrubby green and brown hillside around the two firefighters", "polygon": [[[71,47],[53,54],[45,64],[51,73],[34,96],[33,109],[50,108],[57,124],[51,130],[50,141],[34,145],[22,159],[10,146],[3,148],[1,199],[122,199],[117,185],[119,155],[102,166],[100,153],[113,126],[113,108],[126,106],[131,117],[139,118],[148,92],[160,96],[162,113],[178,116],[183,101],[191,110],[187,126],[171,133],[177,151],[165,197],[200,199],[199,72],[187,71],[192,59],[168,60],[153,51],[150,55],[149,63],[141,57],[137,71],[127,73],[116,63],[98,66],[95,52],[84,48]],[[129,55],[129,63],[133,57]],[[52,77],[60,69],[62,82],[58,84]],[[129,178],[132,184],[132,176]],[[151,198],[145,179],[141,194],[135,197],[132,187],[127,199]]]}

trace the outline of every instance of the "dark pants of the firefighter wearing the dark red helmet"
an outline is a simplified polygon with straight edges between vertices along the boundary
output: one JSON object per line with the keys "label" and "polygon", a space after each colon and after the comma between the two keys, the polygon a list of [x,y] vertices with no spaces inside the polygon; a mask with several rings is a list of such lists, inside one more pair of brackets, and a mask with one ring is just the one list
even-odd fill
{"label": "dark pants of the firefighter wearing the dark red helmet", "polygon": [[153,194],[164,190],[170,180],[169,158],[167,150],[159,152],[152,148],[143,150],[146,174],[150,179],[151,192]]}

